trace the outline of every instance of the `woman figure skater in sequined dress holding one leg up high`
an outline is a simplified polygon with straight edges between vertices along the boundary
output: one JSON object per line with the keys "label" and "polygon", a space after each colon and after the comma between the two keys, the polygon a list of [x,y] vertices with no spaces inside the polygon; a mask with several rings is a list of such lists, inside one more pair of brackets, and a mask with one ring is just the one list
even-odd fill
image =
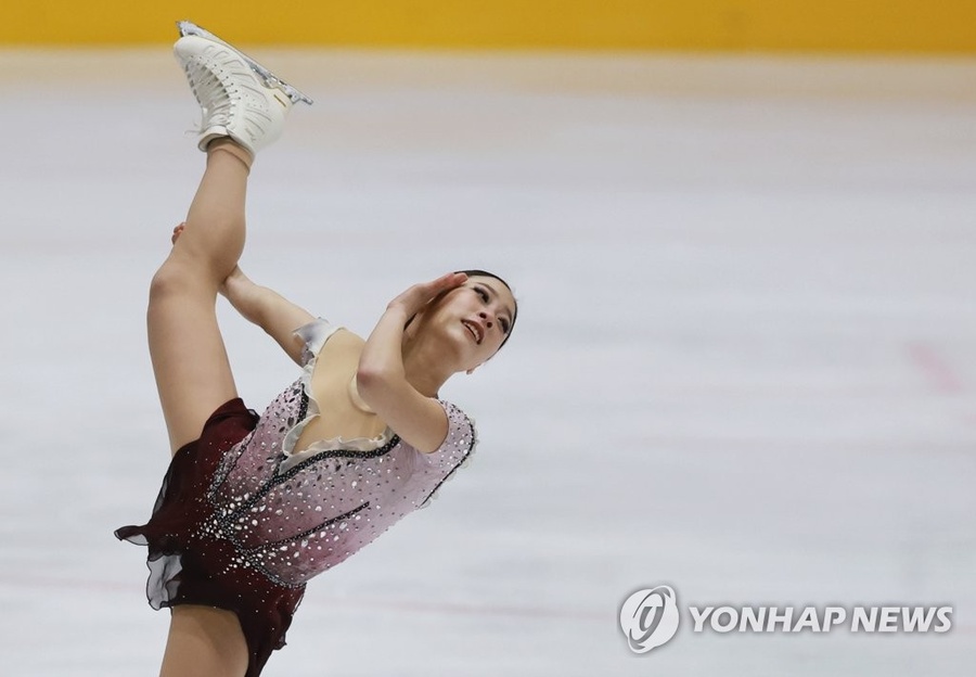
{"label": "woman figure skater in sequined dress holding one leg up high", "polygon": [[[471,455],[471,420],[438,391],[502,346],[517,307],[501,278],[448,273],[394,298],[363,341],[248,280],[252,163],[310,101],[193,24],[180,33],[207,163],[150,289],[174,457],[149,523],[116,536],[149,546],[150,603],[171,610],[160,674],[256,677],[306,583],[427,504]],[[301,367],[260,416],[237,397],[218,294]]]}

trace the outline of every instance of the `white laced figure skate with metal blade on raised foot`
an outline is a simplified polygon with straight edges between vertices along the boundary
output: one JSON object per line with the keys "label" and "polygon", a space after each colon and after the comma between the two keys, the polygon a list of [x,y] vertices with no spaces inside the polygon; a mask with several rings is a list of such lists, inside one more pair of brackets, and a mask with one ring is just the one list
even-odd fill
{"label": "white laced figure skate with metal blade on raised foot", "polygon": [[174,46],[200,103],[198,148],[230,137],[252,155],[277,140],[293,103],[311,99],[232,46],[190,23]]}

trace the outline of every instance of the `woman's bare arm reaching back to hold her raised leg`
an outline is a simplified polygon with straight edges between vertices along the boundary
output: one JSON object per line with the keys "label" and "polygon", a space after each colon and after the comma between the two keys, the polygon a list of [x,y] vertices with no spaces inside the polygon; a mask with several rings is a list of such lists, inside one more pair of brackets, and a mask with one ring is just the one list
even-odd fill
{"label": "woman's bare arm reaching back to hold her raised leg", "polygon": [[316,319],[308,310],[267,286],[255,284],[240,268],[234,268],[223,281],[220,293],[244,319],[264,329],[296,365],[301,365],[305,342],[295,335],[295,330]]}

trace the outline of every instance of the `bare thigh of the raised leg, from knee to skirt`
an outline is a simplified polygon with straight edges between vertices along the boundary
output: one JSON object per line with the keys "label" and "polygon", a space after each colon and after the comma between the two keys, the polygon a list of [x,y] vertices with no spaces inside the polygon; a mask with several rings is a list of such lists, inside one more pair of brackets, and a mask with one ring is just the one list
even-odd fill
{"label": "bare thigh of the raised leg, from knee to skirt", "polygon": [[170,256],[153,278],[150,355],[174,452],[200,437],[210,414],[237,396],[216,302],[216,285],[194,261]]}

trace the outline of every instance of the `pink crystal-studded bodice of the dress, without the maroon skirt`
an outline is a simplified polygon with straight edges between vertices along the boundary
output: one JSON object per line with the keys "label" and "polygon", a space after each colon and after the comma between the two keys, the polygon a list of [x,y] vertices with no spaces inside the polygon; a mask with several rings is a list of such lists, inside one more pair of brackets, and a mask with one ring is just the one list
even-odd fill
{"label": "pink crystal-studded bodice of the dress, without the maroon skirt", "polygon": [[311,372],[334,331],[318,320],[296,332],[306,341],[303,376],[227,452],[207,494],[214,514],[204,534],[230,540],[237,565],[280,585],[305,585],[425,507],[476,442],[471,419],[441,400],[448,435],[432,454],[391,431],[376,439],[320,440],[293,454],[301,429],[319,413]]}

